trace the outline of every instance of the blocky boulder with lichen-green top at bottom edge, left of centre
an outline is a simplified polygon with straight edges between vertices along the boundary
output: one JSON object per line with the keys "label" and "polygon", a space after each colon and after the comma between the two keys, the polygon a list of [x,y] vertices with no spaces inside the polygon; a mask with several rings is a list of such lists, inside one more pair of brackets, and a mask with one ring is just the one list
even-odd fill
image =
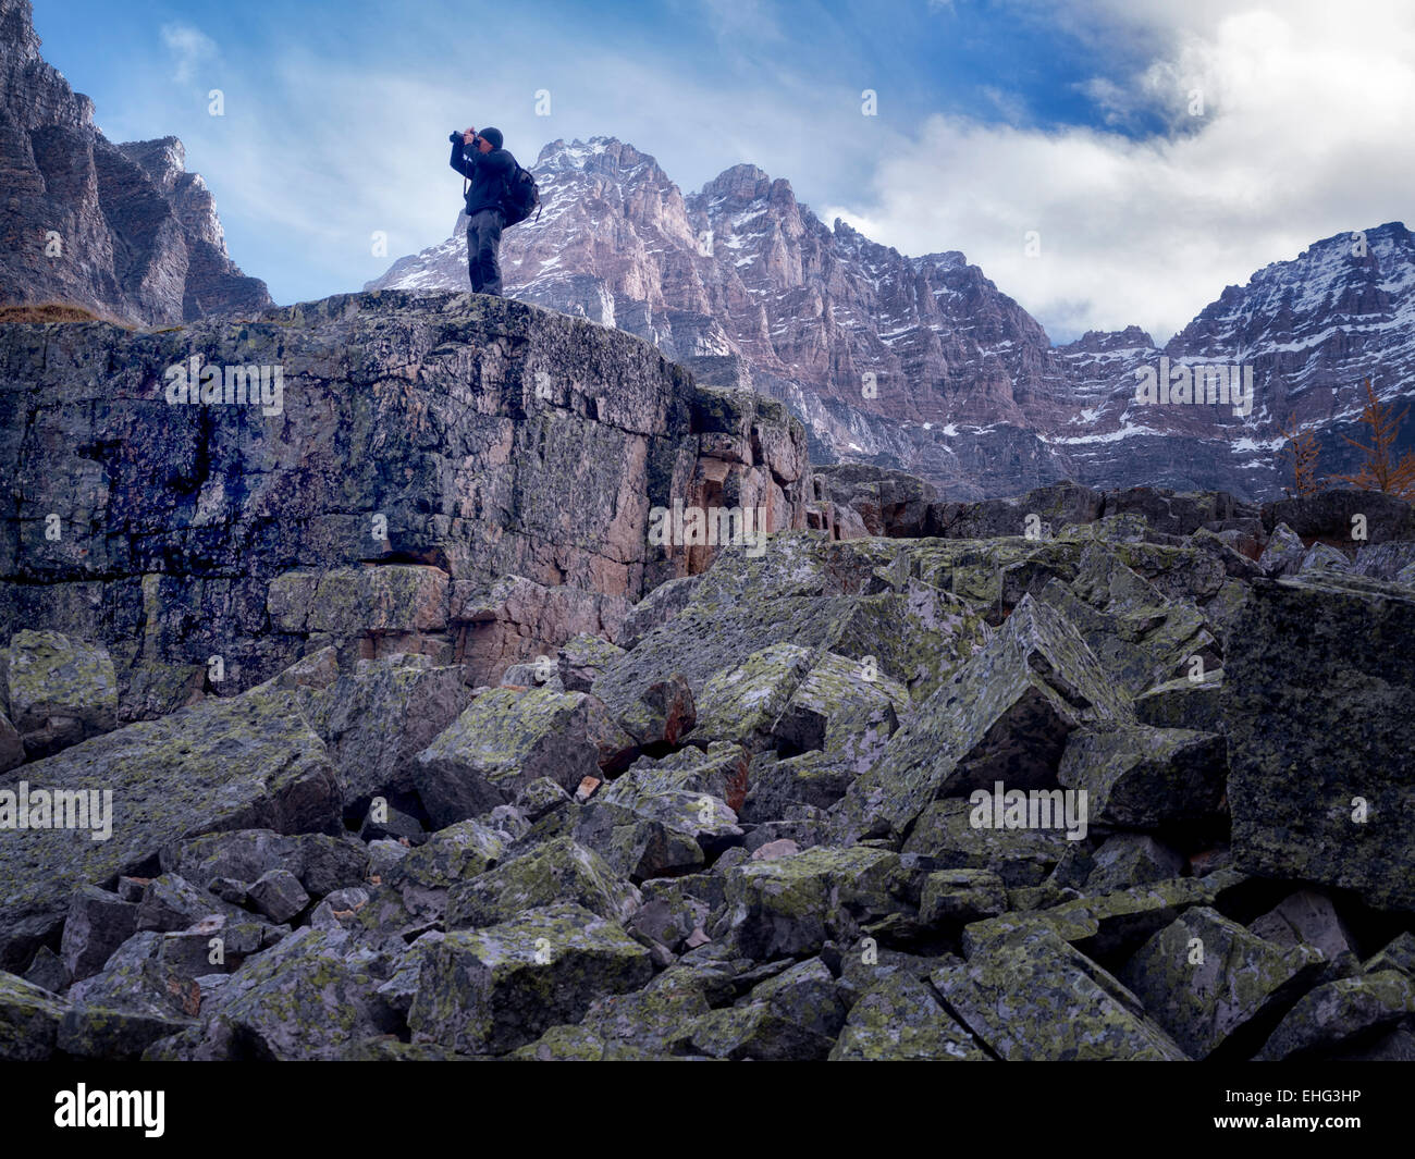
{"label": "blocky boulder with lichen-green top at bottom edge, left of centre", "polygon": [[483,930],[453,930],[423,962],[408,1015],[415,1042],[502,1054],[579,1020],[606,993],[642,986],[648,951],[583,906],[529,910]]}

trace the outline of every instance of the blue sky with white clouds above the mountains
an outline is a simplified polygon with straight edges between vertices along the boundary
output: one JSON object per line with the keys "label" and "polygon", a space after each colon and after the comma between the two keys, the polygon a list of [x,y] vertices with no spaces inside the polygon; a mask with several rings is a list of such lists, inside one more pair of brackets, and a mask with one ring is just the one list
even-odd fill
{"label": "blue sky with white clouds above the mountains", "polygon": [[1415,187],[1402,0],[34,7],[110,139],[183,139],[232,256],[282,303],[441,241],[444,140],[467,123],[526,164],[616,136],[685,191],[756,163],[825,221],[964,250],[1057,341],[1167,337],[1261,265],[1402,219]]}

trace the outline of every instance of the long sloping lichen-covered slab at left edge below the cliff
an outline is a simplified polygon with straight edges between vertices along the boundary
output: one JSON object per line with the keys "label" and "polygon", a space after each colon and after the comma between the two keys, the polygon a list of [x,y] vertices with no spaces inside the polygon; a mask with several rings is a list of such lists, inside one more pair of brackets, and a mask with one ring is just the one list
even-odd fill
{"label": "long sloping lichen-covered slab at left edge below the cliff", "polygon": [[[23,766],[31,787],[112,790],[112,838],[78,829],[8,831],[25,849],[6,858],[0,964],[20,967],[55,930],[69,896],[219,829],[340,829],[340,791],[324,743],[293,693],[252,689],[208,699],[161,720],[129,725]],[[13,790],[20,771],[0,777]]]}

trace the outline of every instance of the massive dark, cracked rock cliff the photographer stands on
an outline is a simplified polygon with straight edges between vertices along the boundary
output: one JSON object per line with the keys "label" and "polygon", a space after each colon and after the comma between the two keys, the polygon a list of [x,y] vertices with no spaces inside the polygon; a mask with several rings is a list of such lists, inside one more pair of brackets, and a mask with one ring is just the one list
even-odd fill
{"label": "massive dark, cracked rock cliff the photographer stands on", "polygon": [[[212,400],[170,402],[187,379]],[[654,508],[760,509],[778,531],[811,494],[780,403],[470,294],[7,327],[0,417],[0,621],[103,642],[122,719],[248,688],[311,644],[494,681],[576,633],[613,641],[651,586],[708,565],[706,542],[649,542]]]}

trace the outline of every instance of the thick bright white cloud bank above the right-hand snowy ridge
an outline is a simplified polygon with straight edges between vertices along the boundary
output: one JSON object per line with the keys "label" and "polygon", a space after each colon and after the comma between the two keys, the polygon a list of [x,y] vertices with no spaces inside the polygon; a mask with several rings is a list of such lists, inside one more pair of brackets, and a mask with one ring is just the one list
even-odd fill
{"label": "thick bright white cloud bank above the right-hand snowy ridge", "polygon": [[[1108,125],[1157,110],[1165,137],[934,116],[884,156],[873,201],[822,217],[906,253],[962,249],[1054,337],[1139,323],[1163,341],[1225,284],[1405,214],[1415,7],[1176,7],[1094,0],[1071,28],[1165,47],[1129,83],[1081,82]],[[1196,89],[1201,117],[1189,113]],[[1024,256],[1029,229],[1039,258]]]}

